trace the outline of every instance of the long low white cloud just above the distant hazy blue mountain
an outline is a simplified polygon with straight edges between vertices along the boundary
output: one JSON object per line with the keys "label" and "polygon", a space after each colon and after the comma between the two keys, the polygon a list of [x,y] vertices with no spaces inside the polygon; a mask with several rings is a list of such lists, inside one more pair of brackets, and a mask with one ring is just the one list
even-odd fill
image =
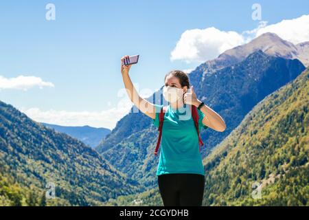
{"label": "long low white cloud just above the distant hazy blue mountain", "polygon": [[[108,106],[111,106],[109,103]],[[28,117],[36,122],[45,122],[49,124],[58,124],[62,126],[84,126],[104,127],[113,129],[116,123],[126,115],[133,106],[130,100],[122,100],[117,104],[117,107],[104,111],[65,111],[49,109],[43,111],[37,107],[19,109]]]}

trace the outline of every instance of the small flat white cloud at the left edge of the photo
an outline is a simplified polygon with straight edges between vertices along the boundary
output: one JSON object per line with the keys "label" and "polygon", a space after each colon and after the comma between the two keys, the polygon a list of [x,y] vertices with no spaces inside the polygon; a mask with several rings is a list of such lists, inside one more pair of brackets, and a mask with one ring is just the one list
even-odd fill
{"label": "small flat white cloud at the left edge of the photo", "polygon": [[36,76],[17,76],[15,78],[5,78],[0,76],[0,90],[1,89],[21,89],[27,91],[32,87],[54,87],[53,83],[45,82]]}

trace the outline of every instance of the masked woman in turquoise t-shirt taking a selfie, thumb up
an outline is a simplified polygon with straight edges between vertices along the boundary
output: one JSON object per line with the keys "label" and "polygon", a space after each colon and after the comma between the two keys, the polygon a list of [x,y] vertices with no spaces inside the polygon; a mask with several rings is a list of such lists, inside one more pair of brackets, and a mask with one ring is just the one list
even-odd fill
{"label": "masked woman in turquoise t-shirt taking a selfie, thumb up", "polygon": [[[122,57],[122,63],[128,56]],[[159,126],[159,112],[162,105],[152,104],[141,98],[130,80],[131,65],[121,67],[124,86],[130,100],[137,108]],[[187,92],[190,88],[190,92]],[[205,173],[198,145],[198,135],[194,121],[186,120],[187,109],[191,105],[199,107],[198,126],[216,131],[225,131],[224,120],[211,108],[196,98],[190,87],[187,74],[179,70],[165,75],[163,97],[169,102],[163,122],[161,137],[161,154],[157,168],[159,191],[164,206],[201,206],[205,186]]]}

